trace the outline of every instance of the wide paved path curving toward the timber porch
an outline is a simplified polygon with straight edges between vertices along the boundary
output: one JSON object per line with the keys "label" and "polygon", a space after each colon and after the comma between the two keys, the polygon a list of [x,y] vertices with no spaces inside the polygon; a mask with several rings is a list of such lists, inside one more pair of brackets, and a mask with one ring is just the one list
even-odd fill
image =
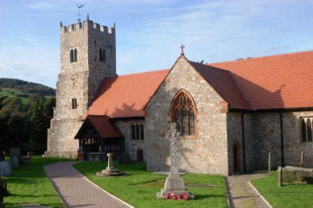
{"label": "wide paved path curving toward the timber porch", "polygon": [[73,163],[54,163],[44,167],[66,207],[127,207],[85,179],[73,168]]}

